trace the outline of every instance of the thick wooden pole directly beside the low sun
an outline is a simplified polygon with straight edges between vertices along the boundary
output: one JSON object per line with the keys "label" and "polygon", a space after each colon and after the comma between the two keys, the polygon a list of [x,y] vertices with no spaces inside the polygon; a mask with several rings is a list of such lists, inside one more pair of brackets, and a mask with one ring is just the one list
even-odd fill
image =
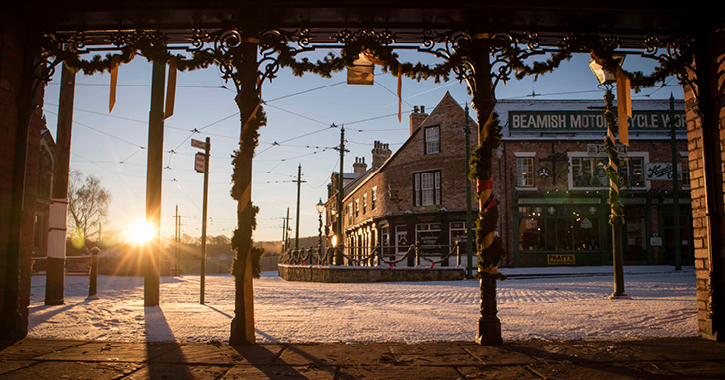
{"label": "thick wooden pole directly beside the low sun", "polygon": [[144,306],[159,304],[159,258],[161,251],[161,181],[164,154],[164,81],[166,64],[153,62],[151,77],[151,109],[146,168],[146,222],[154,235],[145,246]]}

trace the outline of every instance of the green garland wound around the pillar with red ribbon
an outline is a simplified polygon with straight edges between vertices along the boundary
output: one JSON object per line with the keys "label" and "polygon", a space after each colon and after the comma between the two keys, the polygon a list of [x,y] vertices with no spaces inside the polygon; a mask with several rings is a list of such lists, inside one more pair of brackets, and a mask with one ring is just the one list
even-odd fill
{"label": "green garland wound around the pillar with red ribbon", "polygon": [[[490,127],[492,133],[484,141],[481,141],[478,147],[476,147],[476,150],[471,154],[469,163],[471,165],[471,171],[468,178],[476,181],[476,183],[491,178],[493,152],[501,144],[501,124],[496,112],[492,115]],[[476,193],[476,199],[478,198],[479,194]],[[478,211],[478,217],[476,218],[478,273],[489,272],[492,268],[497,267],[499,261],[506,256],[503,239],[500,236],[494,237],[493,242],[488,247],[483,246],[485,237],[496,230],[498,219],[498,205],[490,206],[487,209],[483,207]],[[501,273],[495,274],[494,276],[500,280],[506,278]]]}

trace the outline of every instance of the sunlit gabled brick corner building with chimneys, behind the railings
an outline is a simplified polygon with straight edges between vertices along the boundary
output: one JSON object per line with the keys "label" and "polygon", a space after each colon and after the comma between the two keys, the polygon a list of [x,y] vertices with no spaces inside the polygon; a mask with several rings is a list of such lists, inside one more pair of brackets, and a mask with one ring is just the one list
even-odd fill
{"label": "sunlit gabled brick corner building with chimneys, behind the railings", "polygon": [[[341,222],[351,257],[364,257],[371,246],[380,245],[386,257],[400,258],[419,241],[423,253],[437,259],[455,241],[465,242],[465,119],[449,93],[430,115],[416,107],[410,115],[410,137],[400,149],[392,153],[387,144],[376,141],[369,169],[364,158],[355,159],[354,179],[344,184],[341,215],[333,211],[338,178],[334,173],[326,202],[327,223],[332,225],[328,237]],[[469,125],[473,150],[478,126],[473,120]],[[475,199],[473,207],[478,208]],[[461,250],[465,253],[465,244]],[[403,264],[413,261],[410,257]]]}

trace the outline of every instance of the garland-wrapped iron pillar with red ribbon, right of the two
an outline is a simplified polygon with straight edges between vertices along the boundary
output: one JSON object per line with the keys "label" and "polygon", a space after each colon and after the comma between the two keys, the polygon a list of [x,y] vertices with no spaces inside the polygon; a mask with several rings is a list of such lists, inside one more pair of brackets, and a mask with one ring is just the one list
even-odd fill
{"label": "garland-wrapped iron pillar with red ribbon, right of the two", "polygon": [[[471,60],[474,77],[469,80],[473,93],[473,108],[478,115],[478,142],[475,164],[471,175],[476,179],[479,217],[476,229],[476,248],[478,251],[479,278],[481,281],[481,317],[478,319],[476,343],[480,345],[500,345],[501,321],[496,314],[496,279],[498,274],[500,242],[494,238],[498,223],[498,209],[493,196],[493,177],[491,157],[499,142],[496,117],[493,109],[496,105],[489,60],[491,39],[488,34],[476,34],[471,41]],[[500,239],[499,239],[500,240]],[[491,253],[495,253],[491,255]],[[496,256],[496,257],[492,257]]]}

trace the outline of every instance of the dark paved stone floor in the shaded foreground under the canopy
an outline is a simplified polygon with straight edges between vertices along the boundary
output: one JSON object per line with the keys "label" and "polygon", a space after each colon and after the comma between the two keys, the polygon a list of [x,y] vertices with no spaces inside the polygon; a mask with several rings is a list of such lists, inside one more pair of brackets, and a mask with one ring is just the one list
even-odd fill
{"label": "dark paved stone floor in the shaded foreground under the canopy", "polygon": [[1,379],[723,379],[725,344],[629,341],[260,344],[24,339]]}

